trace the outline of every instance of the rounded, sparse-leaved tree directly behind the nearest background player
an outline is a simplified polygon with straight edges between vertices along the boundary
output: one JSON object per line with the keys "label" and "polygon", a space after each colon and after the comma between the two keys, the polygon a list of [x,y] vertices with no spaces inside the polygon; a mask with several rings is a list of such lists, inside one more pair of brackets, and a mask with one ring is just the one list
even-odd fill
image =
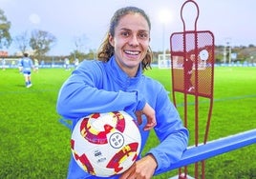
{"label": "rounded, sparse-leaved tree directly behind the nearest background player", "polygon": [[51,50],[55,42],[56,38],[52,33],[44,30],[32,30],[30,46],[34,50],[34,56],[41,58]]}

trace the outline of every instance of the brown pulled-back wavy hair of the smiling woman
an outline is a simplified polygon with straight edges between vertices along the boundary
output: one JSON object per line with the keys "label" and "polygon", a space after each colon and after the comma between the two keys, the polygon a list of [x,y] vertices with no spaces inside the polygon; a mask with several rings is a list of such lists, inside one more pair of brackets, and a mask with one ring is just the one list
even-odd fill
{"label": "brown pulled-back wavy hair of the smiling woman", "polygon": [[[140,10],[139,8],[136,8],[136,7],[126,7],[126,8],[117,10],[110,21],[109,30],[97,52],[97,59],[99,61],[107,62],[109,61],[110,57],[114,55],[114,47],[111,46],[111,44],[109,43],[109,35],[112,35],[112,36],[115,35],[115,29],[121,17],[128,13],[141,14],[147,21],[149,30],[151,30],[151,23],[150,23],[149,17],[144,12],[144,10]],[[147,70],[148,68],[151,69],[150,64],[152,62],[152,58],[153,58],[152,50],[150,49],[150,47],[148,47],[145,58],[141,62],[142,70]]]}

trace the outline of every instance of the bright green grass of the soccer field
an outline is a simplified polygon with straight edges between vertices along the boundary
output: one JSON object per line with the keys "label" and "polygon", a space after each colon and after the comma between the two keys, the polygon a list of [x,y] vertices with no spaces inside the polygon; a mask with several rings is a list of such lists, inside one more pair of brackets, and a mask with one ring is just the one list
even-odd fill
{"label": "bright green grass of the soccer field", "polygon": [[[26,89],[18,70],[0,70],[0,178],[66,178],[71,156],[70,130],[59,123],[61,116],[55,111],[55,103],[58,90],[70,74],[63,69],[41,69],[32,73],[33,86]],[[153,69],[146,74],[171,91],[170,70]],[[256,68],[216,68],[214,88],[209,140],[256,128]],[[178,104],[182,103],[181,98],[179,95]],[[200,101],[204,116],[207,99]],[[182,113],[182,107],[178,109]],[[200,123],[202,130],[204,124],[205,119]],[[151,132],[146,149],[157,144]],[[256,179],[255,151],[256,146],[252,145],[207,160],[206,179]],[[176,169],[154,178],[165,179],[177,172]],[[189,167],[189,174],[193,176],[193,166]]]}

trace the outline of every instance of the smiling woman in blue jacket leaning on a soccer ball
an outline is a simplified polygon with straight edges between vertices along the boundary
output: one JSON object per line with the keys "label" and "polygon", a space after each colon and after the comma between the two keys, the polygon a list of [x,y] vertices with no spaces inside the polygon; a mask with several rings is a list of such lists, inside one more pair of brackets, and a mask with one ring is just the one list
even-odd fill
{"label": "smiling woman in blue jacket leaning on a soccer ball", "polygon": [[[143,74],[151,69],[151,23],[137,7],[117,10],[111,19],[107,35],[97,59],[83,61],[59,90],[56,110],[73,121],[94,112],[124,110],[138,122],[141,150],[138,160],[122,174],[109,178],[149,179],[181,159],[188,145],[188,130],[184,128],[178,110],[168,92],[153,78]],[[160,144],[142,156],[154,129]],[[68,179],[99,178],[90,175],[72,157]]]}

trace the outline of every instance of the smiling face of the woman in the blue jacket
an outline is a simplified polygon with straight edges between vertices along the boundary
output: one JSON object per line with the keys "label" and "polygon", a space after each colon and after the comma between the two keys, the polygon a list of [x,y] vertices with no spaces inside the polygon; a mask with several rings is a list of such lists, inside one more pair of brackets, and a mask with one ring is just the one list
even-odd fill
{"label": "smiling face of the woman in the blue jacket", "polygon": [[139,13],[129,13],[121,17],[115,35],[109,36],[118,66],[129,76],[137,74],[139,63],[147,53],[149,41],[148,23]]}

